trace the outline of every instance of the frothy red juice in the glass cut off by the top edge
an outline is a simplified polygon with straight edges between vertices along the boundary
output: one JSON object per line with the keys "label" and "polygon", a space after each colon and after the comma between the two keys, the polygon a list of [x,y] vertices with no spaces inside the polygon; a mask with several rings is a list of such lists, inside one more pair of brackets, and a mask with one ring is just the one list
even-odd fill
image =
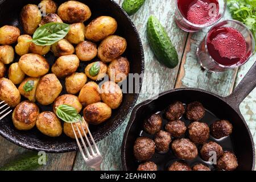
{"label": "frothy red juice in the glass cut off by the top edge", "polygon": [[218,19],[218,0],[177,0],[177,6],[180,13],[193,24],[210,24]]}

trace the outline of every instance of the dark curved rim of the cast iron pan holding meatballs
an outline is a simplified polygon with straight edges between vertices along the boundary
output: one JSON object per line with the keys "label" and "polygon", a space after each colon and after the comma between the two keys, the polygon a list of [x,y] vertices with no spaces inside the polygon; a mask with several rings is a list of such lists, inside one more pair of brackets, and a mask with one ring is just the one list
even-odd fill
{"label": "dark curved rim of the cast iron pan holding meatballs", "polygon": [[[123,168],[124,171],[127,171],[126,159],[125,159],[125,157],[126,157],[126,141],[127,141],[127,137],[128,137],[129,131],[131,129],[131,126],[133,125],[134,120],[137,117],[137,111],[139,110],[139,108],[141,106],[150,104],[152,101],[158,99],[158,97],[162,97],[162,96],[164,96],[166,94],[173,93],[173,92],[179,92],[179,91],[183,91],[183,90],[194,90],[194,91],[197,91],[197,92],[207,93],[207,94],[210,94],[212,96],[215,96],[215,97],[219,98],[220,100],[222,100],[226,104],[228,104],[226,102],[226,100],[224,99],[224,97],[218,96],[217,94],[208,92],[206,90],[195,89],[195,88],[178,88],[178,89],[167,90],[166,92],[160,93],[158,96],[152,97],[151,99],[146,100],[146,101],[142,102],[141,104],[138,104],[137,106],[134,107],[133,111],[131,112],[130,120],[129,120],[128,125],[126,127],[125,134],[123,135],[123,141],[122,141],[122,147],[121,147],[121,160],[122,160],[122,168]],[[230,106],[230,107],[232,107],[232,106]],[[246,127],[246,129],[247,129],[247,131],[249,133],[250,141],[251,141],[251,146],[253,147],[253,159],[251,159],[253,165],[252,165],[251,171],[254,171],[254,169],[255,169],[255,147],[254,147],[254,142],[253,142],[253,136],[251,135],[250,129],[249,129],[247,123],[245,122],[245,119],[243,118],[241,112],[237,111],[235,108],[233,108],[233,109],[240,116],[240,118],[242,119],[243,125],[245,125],[245,127]]]}

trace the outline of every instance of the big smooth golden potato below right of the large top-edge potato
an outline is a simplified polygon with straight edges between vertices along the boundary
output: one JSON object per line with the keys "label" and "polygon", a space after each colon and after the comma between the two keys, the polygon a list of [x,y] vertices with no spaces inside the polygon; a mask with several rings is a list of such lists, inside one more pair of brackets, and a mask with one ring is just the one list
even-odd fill
{"label": "big smooth golden potato below right of the large top-edge potato", "polygon": [[105,39],[117,31],[117,21],[110,16],[100,16],[85,28],[85,38],[93,42]]}

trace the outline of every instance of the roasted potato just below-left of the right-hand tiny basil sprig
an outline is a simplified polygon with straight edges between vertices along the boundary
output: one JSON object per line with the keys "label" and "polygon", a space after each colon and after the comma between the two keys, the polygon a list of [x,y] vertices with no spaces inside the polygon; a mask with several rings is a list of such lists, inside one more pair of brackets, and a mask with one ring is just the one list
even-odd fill
{"label": "roasted potato just below-left of the right-hand tiny basil sprig", "polygon": [[65,78],[66,90],[70,94],[77,94],[87,82],[87,77],[84,73],[73,73]]}

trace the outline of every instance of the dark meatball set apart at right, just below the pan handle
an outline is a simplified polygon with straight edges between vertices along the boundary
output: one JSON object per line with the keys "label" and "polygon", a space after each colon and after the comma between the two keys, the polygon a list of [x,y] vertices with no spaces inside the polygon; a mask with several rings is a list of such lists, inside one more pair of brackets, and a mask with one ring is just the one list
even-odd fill
{"label": "dark meatball set apart at right, just below the pan handle", "polygon": [[227,120],[216,121],[210,126],[210,134],[217,139],[229,136],[232,130],[233,126]]}

